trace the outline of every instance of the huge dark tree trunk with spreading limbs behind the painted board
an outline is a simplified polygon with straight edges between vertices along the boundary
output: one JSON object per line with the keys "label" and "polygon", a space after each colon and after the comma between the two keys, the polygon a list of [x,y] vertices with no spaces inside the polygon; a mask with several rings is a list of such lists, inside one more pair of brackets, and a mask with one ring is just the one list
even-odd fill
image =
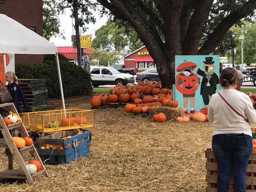
{"label": "huge dark tree trunk with spreading limbs behind the painted board", "polygon": [[[134,28],[156,62],[164,87],[174,84],[175,55],[214,52],[226,32],[256,9],[255,0],[97,1],[104,6],[102,12],[109,10]],[[205,34],[210,22],[212,30]]]}

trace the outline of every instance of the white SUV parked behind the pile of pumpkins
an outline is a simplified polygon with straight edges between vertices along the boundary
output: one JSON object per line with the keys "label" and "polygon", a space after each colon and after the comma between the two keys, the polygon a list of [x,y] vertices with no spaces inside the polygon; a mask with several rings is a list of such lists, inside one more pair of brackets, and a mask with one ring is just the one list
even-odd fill
{"label": "white SUV parked behind the pile of pumpkins", "polygon": [[133,75],[120,73],[113,67],[91,66],[91,78],[94,87],[134,83]]}

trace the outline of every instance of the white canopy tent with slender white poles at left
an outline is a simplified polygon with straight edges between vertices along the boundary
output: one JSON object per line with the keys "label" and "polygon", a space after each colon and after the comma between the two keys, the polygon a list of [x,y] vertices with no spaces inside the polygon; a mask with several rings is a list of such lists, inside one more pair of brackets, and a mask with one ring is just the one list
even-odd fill
{"label": "white canopy tent with slender white poles at left", "polygon": [[0,53],[3,53],[5,73],[6,53],[56,55],[57,70],[60,83],[60,94],[62,99],[62,106],[65,110],[57,47],[42,36],[36,34],[34,31],[26,28],[16,20],[13,20],[12,18],[4,14],[0,14],[0,26]]}

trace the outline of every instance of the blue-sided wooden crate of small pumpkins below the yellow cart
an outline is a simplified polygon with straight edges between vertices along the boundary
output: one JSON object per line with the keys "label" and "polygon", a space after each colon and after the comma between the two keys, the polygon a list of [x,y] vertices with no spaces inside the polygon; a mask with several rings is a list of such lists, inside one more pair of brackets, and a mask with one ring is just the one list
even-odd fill
{"label": "blue-sided wooden crate of small pumpkins below the yellow cart", "polygon": [[[63,131],[38,138],[37,151],[42,162],[48,164],[68,164],[80,156],[87,156],[90,152],[90,133],[89,131],[83,131],[82,134],[76,134],[77,131]],[[65,139],[64,137],[67,136],[72,137]],[[78,140],[77,147],[74,147],[74,140]],[[41,149],[43,144],[62,145],[64,149]]]}

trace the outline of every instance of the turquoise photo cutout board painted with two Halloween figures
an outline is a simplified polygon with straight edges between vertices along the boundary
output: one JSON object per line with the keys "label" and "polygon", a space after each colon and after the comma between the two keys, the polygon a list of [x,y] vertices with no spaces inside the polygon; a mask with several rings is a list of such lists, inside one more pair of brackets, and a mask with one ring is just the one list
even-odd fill
{"label": "turquoise photo cutout board painted with two Halloween figures", "polygon": [[218,55],[175,56],[175,99],[187,112],[199,111],[220,90]]}

